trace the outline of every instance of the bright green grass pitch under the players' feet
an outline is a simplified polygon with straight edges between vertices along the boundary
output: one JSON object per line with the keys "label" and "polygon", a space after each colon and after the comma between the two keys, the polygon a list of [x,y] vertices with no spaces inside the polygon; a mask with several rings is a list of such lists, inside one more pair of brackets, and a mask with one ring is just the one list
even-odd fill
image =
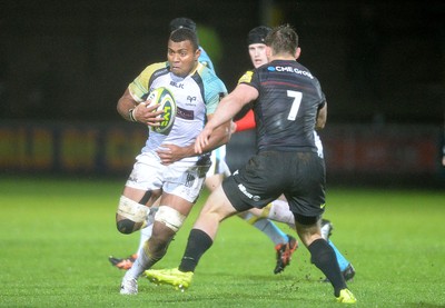
{"label": "bright green grass pitch under the players' feet", "polygon": [[[338,307],[300,247],[274,275],[269,239],[239,218],[222,222],[186,292],[139,279],[120,296],[127,256],[115,210],[125,179],[0,178],[0,307]],[[202,200],[155,268],[176,267]],[[353,262],[357,307],[445,307],[445,191],[330,188],[332,240]],[[279,225],[294,234],[287,226]]]}

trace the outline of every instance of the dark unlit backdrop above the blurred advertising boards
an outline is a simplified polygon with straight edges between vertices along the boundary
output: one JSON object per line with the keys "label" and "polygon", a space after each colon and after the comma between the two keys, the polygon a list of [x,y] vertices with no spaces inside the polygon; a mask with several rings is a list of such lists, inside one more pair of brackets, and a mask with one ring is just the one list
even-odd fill
{"label": "dark unlit backdrop above the blurred advertising boards", "polygon": [[300,36],[300,62],[322,81],[330,122],[441,123],[444,3],[3,1],[0,118],[120,120],[117,99],[146,64],[166,58],[167,24],[187,16],[229,89],[250,66],[248,30],[288,22]]}

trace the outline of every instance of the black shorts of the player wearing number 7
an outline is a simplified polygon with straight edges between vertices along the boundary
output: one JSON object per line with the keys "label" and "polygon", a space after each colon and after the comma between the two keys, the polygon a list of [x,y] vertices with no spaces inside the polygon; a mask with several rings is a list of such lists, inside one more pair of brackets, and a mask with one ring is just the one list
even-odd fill
{"label": "black shorts of the player wearing number 7", "polygon": [[325,161],[316,152],[264,151],[222,182],[238,211],[264,208],[281,193],[297,216],[317,217],[325,210]]}

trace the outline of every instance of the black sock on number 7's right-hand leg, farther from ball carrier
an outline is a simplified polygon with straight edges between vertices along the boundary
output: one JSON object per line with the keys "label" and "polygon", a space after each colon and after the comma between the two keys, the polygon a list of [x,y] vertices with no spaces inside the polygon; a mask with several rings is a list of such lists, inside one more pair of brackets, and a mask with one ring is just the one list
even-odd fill
{"label": "black sock on number 7's right-hand leg, farther from ball carrier", "polygon": [[346,282],[334,249],[324,239],[313,241],[307,249],[309,249],[313,264],[326,275],[334,287],[334,295],[338,297],[340,290],[346,288]]}

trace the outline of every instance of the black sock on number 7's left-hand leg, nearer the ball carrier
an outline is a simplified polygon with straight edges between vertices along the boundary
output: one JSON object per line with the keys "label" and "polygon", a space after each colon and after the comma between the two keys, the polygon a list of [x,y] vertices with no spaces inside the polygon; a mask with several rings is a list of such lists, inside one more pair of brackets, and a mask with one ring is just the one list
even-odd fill
{"label": "black sock on number 7's left-hand leg, nearer the ball carrier", "polygon": [[179,270],[195,271],[199,259],[212,244],[214,241],[206,232],[199,229],[191,229],[188,236],[186,251],[179,265]]}

